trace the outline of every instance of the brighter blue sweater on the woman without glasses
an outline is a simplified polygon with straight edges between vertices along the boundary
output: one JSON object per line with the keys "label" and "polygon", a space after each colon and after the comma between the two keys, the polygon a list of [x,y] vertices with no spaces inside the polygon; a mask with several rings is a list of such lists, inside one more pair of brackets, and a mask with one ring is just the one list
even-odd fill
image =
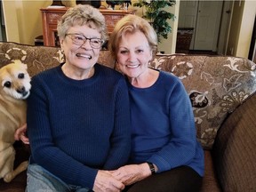
{"label": "brighter blue sweater on the woman without glasses", "polygon": [[180,79],[160,71],[148,88],[127,81],[132,115],[130,163],[156,164],[158,172],[188,165],[204,175],[204,152],[196,140],[196,128],[188,94]]}

